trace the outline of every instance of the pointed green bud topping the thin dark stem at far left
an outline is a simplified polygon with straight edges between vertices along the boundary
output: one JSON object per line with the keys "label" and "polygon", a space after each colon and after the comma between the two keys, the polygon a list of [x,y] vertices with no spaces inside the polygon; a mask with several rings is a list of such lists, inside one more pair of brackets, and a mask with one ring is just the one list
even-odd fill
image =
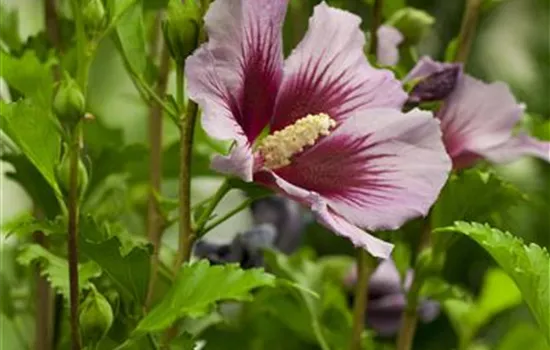
{"label": "pointed green bud topping the thin dark stem at far left", "polygon": [[86,99],[78,84],[65,74],[53,100],[53,111],[62,123],[76,124],[84,116]]}

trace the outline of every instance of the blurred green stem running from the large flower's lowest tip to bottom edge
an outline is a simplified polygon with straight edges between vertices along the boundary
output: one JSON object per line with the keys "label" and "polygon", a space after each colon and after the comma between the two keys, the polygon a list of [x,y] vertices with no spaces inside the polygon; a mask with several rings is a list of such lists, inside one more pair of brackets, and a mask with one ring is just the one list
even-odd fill
{"label": "blurred green stem running from the large flower's lowest tip to bottom edge", "polygon": [[363,249],[357,252],[357,284],[355,285],[353,303],[353,327],[351,333],[351,350],[361,349],[361,334],[365,329],[369,279],[376,268],[376,259]]}

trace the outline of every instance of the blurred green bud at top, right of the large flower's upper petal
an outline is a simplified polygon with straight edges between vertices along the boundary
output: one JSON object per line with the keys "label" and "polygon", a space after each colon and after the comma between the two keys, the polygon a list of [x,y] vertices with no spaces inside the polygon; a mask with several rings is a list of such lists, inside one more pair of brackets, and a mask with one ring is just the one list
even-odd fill
{"label": "blurred green bud at top, right of the large flower's upper petal", "polygon": [[434,24],[435,19],[427,12],[412,7],[396,11],[386,22],[397,28],[405,36],[409,45],[417,44]]}

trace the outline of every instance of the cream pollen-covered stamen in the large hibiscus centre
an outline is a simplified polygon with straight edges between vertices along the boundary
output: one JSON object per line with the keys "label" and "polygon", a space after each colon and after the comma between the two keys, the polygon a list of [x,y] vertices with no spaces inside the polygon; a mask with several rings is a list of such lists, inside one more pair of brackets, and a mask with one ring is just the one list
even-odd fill
{"label": "cream pollen-covered stamen in the large hibiscus centre", "polygon": [[304,147],[313,146],[321,136],[330,133],[336,122],[327,114],[308,115],[298,119],[283,130],[275,131],[261,141],[258,151],[263,158],[263,166],[277,169],[290,164],[293,155],[302,152]]}

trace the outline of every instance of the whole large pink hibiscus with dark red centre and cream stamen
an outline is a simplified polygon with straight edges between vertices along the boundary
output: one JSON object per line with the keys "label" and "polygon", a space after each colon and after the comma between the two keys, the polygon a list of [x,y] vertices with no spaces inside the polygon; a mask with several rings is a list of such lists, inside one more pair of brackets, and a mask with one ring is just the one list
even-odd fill
{"label": "whole large pink hibiscus with dark red centre and cream stamen", "polygon": [[315,7],[284,60],[286,8],[287,0],[217,0],[206,14],[208,42],[185,73],[204,129],[234,141],[212,167],[308,206],[319,223],[386,258],[392,245],[363,229],[396,229],[427,213],[451,165],[438,122],[401,112],[401,83],[369,65],[351,13]]}

